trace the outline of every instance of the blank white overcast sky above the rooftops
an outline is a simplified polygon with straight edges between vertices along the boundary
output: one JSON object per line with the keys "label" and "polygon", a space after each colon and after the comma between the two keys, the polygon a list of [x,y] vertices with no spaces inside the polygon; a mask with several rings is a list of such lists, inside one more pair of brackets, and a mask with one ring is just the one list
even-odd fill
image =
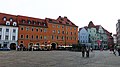
{"label": "blank white overcast sky above the rooftops", "polygon": [[0,12],[41,19],[67,16],[79,28],[93,21],[115,34],[120,0],[1,0]]}

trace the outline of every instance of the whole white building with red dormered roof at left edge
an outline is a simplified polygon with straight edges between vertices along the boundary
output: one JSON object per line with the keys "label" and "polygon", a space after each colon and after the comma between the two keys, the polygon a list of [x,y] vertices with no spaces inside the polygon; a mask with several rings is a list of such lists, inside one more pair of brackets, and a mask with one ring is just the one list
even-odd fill
{"label": "whole white building with red dormered roof at left edge", "polygon": [[16,16],[0,14],[0,48],[16,50],[18,26]]}

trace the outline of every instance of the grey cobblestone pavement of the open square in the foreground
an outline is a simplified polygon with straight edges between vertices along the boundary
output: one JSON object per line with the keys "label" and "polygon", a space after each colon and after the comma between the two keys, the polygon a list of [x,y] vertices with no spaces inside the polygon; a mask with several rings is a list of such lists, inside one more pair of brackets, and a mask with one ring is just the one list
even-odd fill
{"label": "grey cobblestone pavement of the open square in the foreground", "polygon": [[120,67],[120,56],[109,51],[0,51],[0,67]]}

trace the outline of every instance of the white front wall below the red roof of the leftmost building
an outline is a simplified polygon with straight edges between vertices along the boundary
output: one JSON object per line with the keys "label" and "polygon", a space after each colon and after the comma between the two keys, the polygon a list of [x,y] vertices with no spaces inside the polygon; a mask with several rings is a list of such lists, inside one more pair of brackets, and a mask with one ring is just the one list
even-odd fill
{"label": "white front wall below the red roof of the leftmost building", "polygon": [[18,27],[0,26],[0,48],[14,49],[17,46],[17,40]]}

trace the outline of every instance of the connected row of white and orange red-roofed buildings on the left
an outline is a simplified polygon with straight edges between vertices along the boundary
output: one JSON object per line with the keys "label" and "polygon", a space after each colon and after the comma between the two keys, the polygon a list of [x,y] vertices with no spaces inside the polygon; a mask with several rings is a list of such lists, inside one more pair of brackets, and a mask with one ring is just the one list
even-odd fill
{"label": "connected row of white and orange red-roofed buildings on the left", "polygon": [[[78,43],[78,26],[67,17],[33,18],[0,13],[0,48],[51,46],[52,49]],[[46,48],[46,47],[44,47]]]}

